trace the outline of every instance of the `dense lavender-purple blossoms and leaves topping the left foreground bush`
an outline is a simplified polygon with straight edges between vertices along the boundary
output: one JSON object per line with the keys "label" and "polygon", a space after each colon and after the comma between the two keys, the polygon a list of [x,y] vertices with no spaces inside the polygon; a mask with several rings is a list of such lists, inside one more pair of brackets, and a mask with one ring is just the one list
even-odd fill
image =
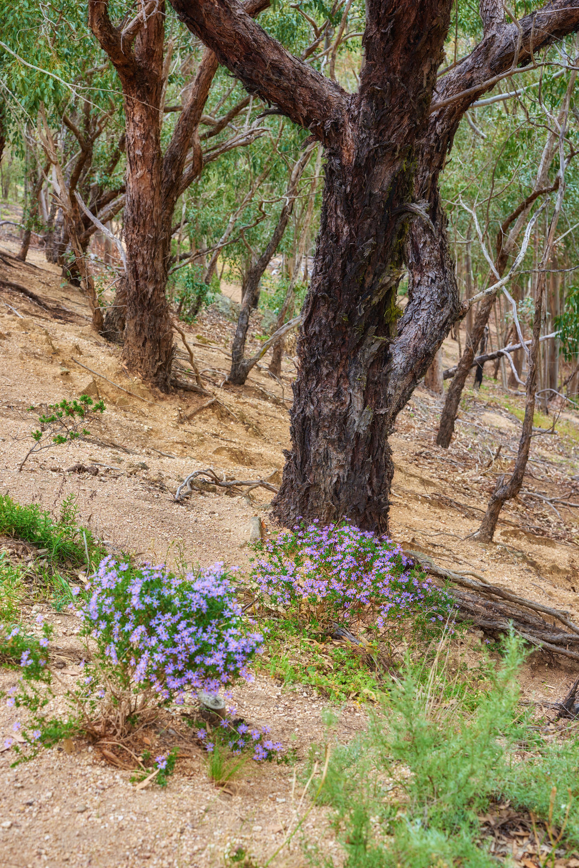
{"label": "dense lavender-purple blossoms and leaves topping the left foreground bush", "polygon": [[186,691],[217,693],[237,677],[263,636],[247,629],[222,563],[174,575],[164,565],[133,567],[106,557],[90,577],[82,633],[122,681],[160,700],[182,703]]}

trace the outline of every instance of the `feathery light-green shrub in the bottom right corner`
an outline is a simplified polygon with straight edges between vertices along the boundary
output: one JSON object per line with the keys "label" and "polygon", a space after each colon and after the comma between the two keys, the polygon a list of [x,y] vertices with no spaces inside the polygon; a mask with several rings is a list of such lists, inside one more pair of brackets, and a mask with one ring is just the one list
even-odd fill
{"label": "feathery light-green shrub in the bottom right corner", "polygon": [[[563,845],[576,846],[579,748],[543,740],[521,712],[522,643],[505,641],[474,707],[455,690],[442,642],[440,652],[430,670],[407,659],[368,733],[333,747],[319,801],[332,806],[347,868],[497,865],[478,817],[498,799],[536,812],[548,827],[549,811],[559,827],[569,812]],[[522,746],[532,759],[520,759]]]}

